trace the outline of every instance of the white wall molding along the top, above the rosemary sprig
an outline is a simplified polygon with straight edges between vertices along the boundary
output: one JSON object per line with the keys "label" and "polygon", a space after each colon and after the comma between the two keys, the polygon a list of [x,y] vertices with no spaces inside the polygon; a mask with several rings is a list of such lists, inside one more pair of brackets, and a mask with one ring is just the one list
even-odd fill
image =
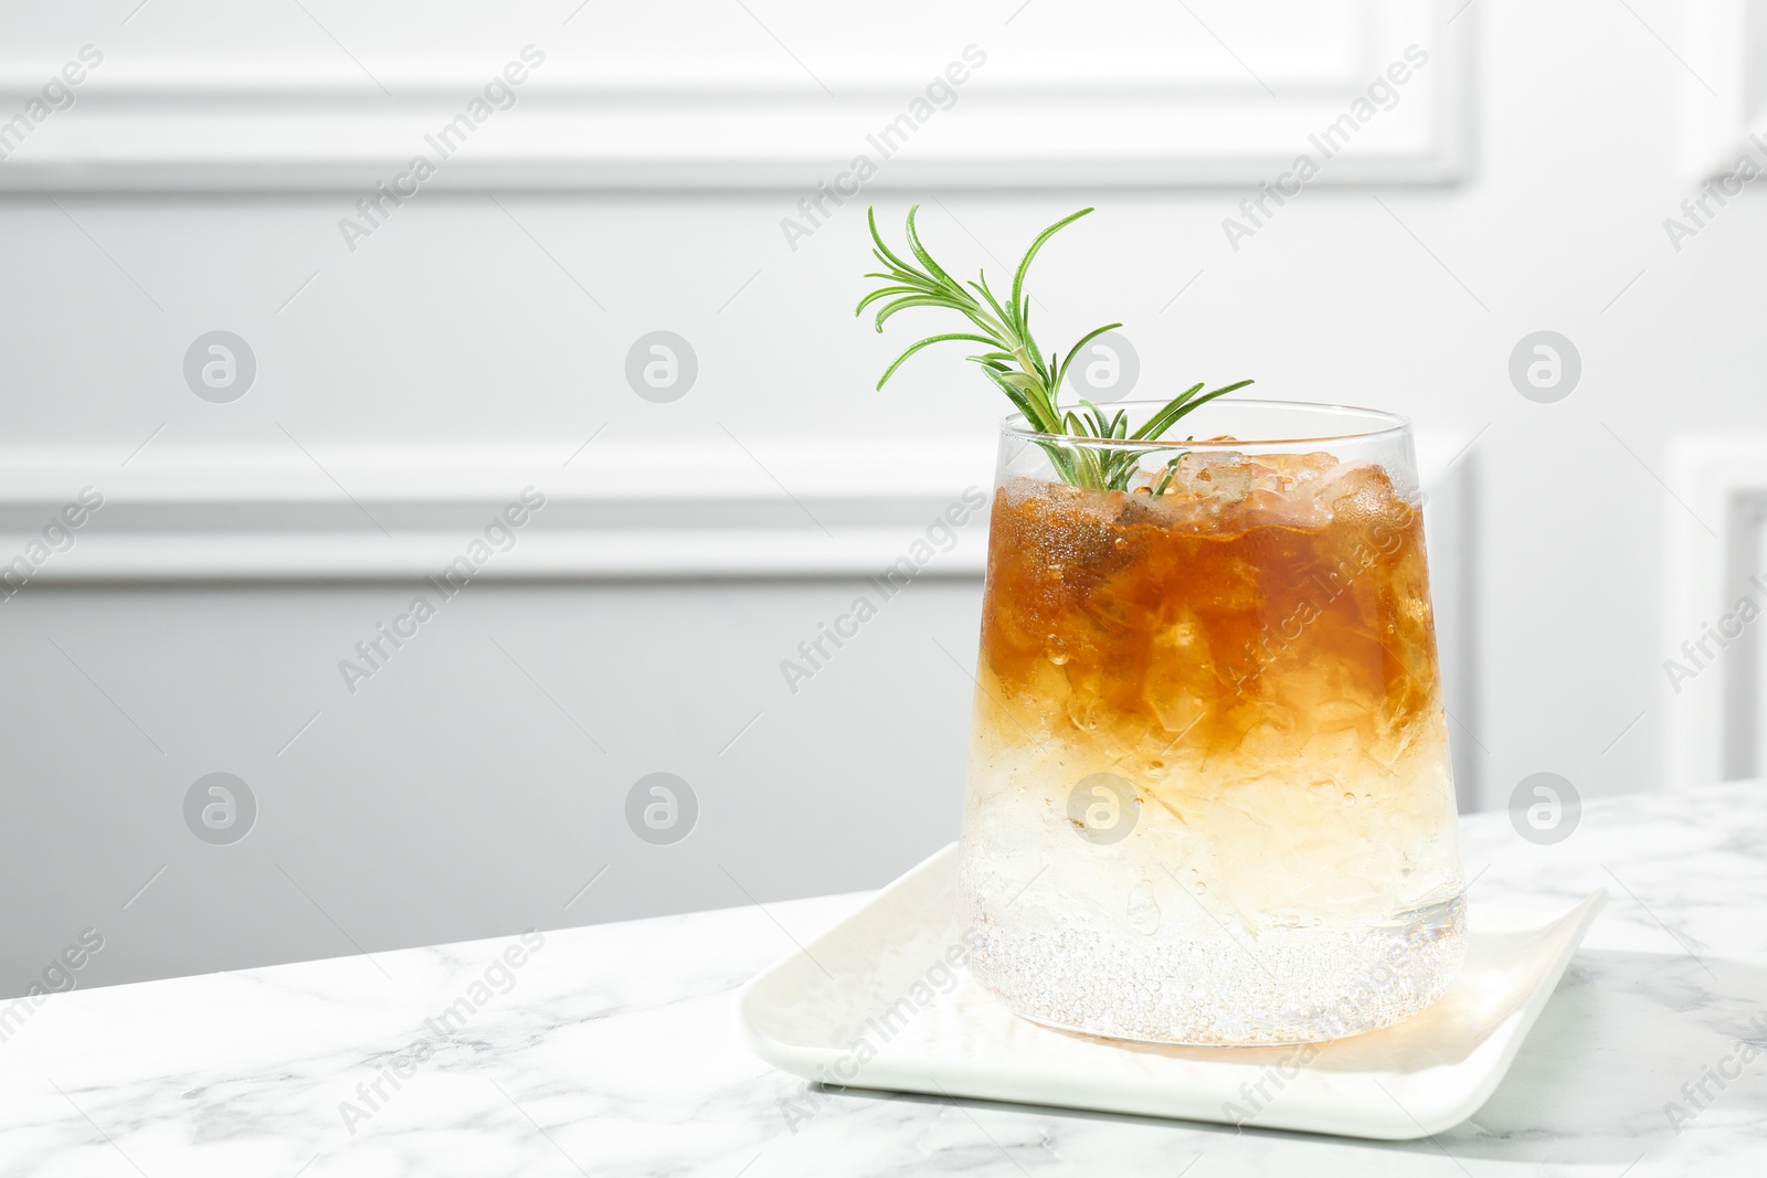
{"label": "white wall molding along the top, above the rosemary sprig", "polygon": [[[482,44],[444,46],[452,58],[435,51],[391,64],[364,51],[376,71],[369,85],[329,42],[306,46],[306,57],[258,44],[212,60],[193,58],[177,41],[147,39],[110,49],[78,104],[49,117],[0,162],[0,191],[366,191],[391,182],[415,154],[436,162],[422,191],[813,191],[859,154],[878,162],[868,191],[1256,184],[1313,150],[1308,134],[1343,115],[1412,42],[1430,65],[1316,182],[1461,177],[1470,104],[1461,94],[1465,26],[1445,26],[1458,7],[1451,0],[1343,0],[1329,12],[1345,14],[1348,30],[1311,44],[1302,41],[1306,28],[1292,26],[1301,21],[1242,23],[1232,26],[1235,51],[1225,51],[1200,18],[1119,16],[1149,23],[1149,35],[1113,28],[1117,51],[1090,57],[1073,42],[1078,14],[1066,11],[1067,0],[1046,4],[1037,19],[990,23],[972,35],[951,18],[947,48],[880,46],[882,65],[838,53],[827,28],[781,25],[783,39],[808,42],[802,57],[816,60],[815,79],[767,41],[751,53],[696,49],[694,37],[710,34],[694,32],[687,16],[670,18],[671,28],[657,34],[627,30],[618,57],[588,57],[573,48],[580,42],[535,34],[546,65],[518,88],[512,108],[491,113],[445,161],[426,134],[461,113],[502,64],[484,57]],[[735,12],[747,48],[756,30],[740,9],[726,9],[719,19]],[[848,41],[868,35],[857,19]],[[836,18],[825,14],[823,23]],[[440,30],[429,35],[447,39]],[[512,34],[500,57],[514,58],[523,39]],[[965,42],[977,44],[988,64],[958,88],[954,106],[924,120],[899,154],[880,159],[868,134],[908,111],[928,79],[961,60]],[[1258,62],[1256,74],[1248,62]],[[37,64],[0,62],[5,113],[44,72]]]}

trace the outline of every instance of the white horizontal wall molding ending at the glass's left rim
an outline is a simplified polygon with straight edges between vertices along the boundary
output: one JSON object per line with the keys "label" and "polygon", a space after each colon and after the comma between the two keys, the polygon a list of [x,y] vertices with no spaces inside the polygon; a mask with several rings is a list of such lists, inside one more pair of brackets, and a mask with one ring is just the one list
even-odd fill
{"label": "white horizontal wall molding ending at the glass's left rim", "polygon": [[[535,487],[546,505],[486,579],[859,576],[967,487],[986,495],[993,461],[991,440],[304,449],[148,447],[129,466],[92,449],[0,454],[0,560],[94,486],[104,507],[44,581],[413,579]],[[928,570],[979,576],[982,532]]]}

